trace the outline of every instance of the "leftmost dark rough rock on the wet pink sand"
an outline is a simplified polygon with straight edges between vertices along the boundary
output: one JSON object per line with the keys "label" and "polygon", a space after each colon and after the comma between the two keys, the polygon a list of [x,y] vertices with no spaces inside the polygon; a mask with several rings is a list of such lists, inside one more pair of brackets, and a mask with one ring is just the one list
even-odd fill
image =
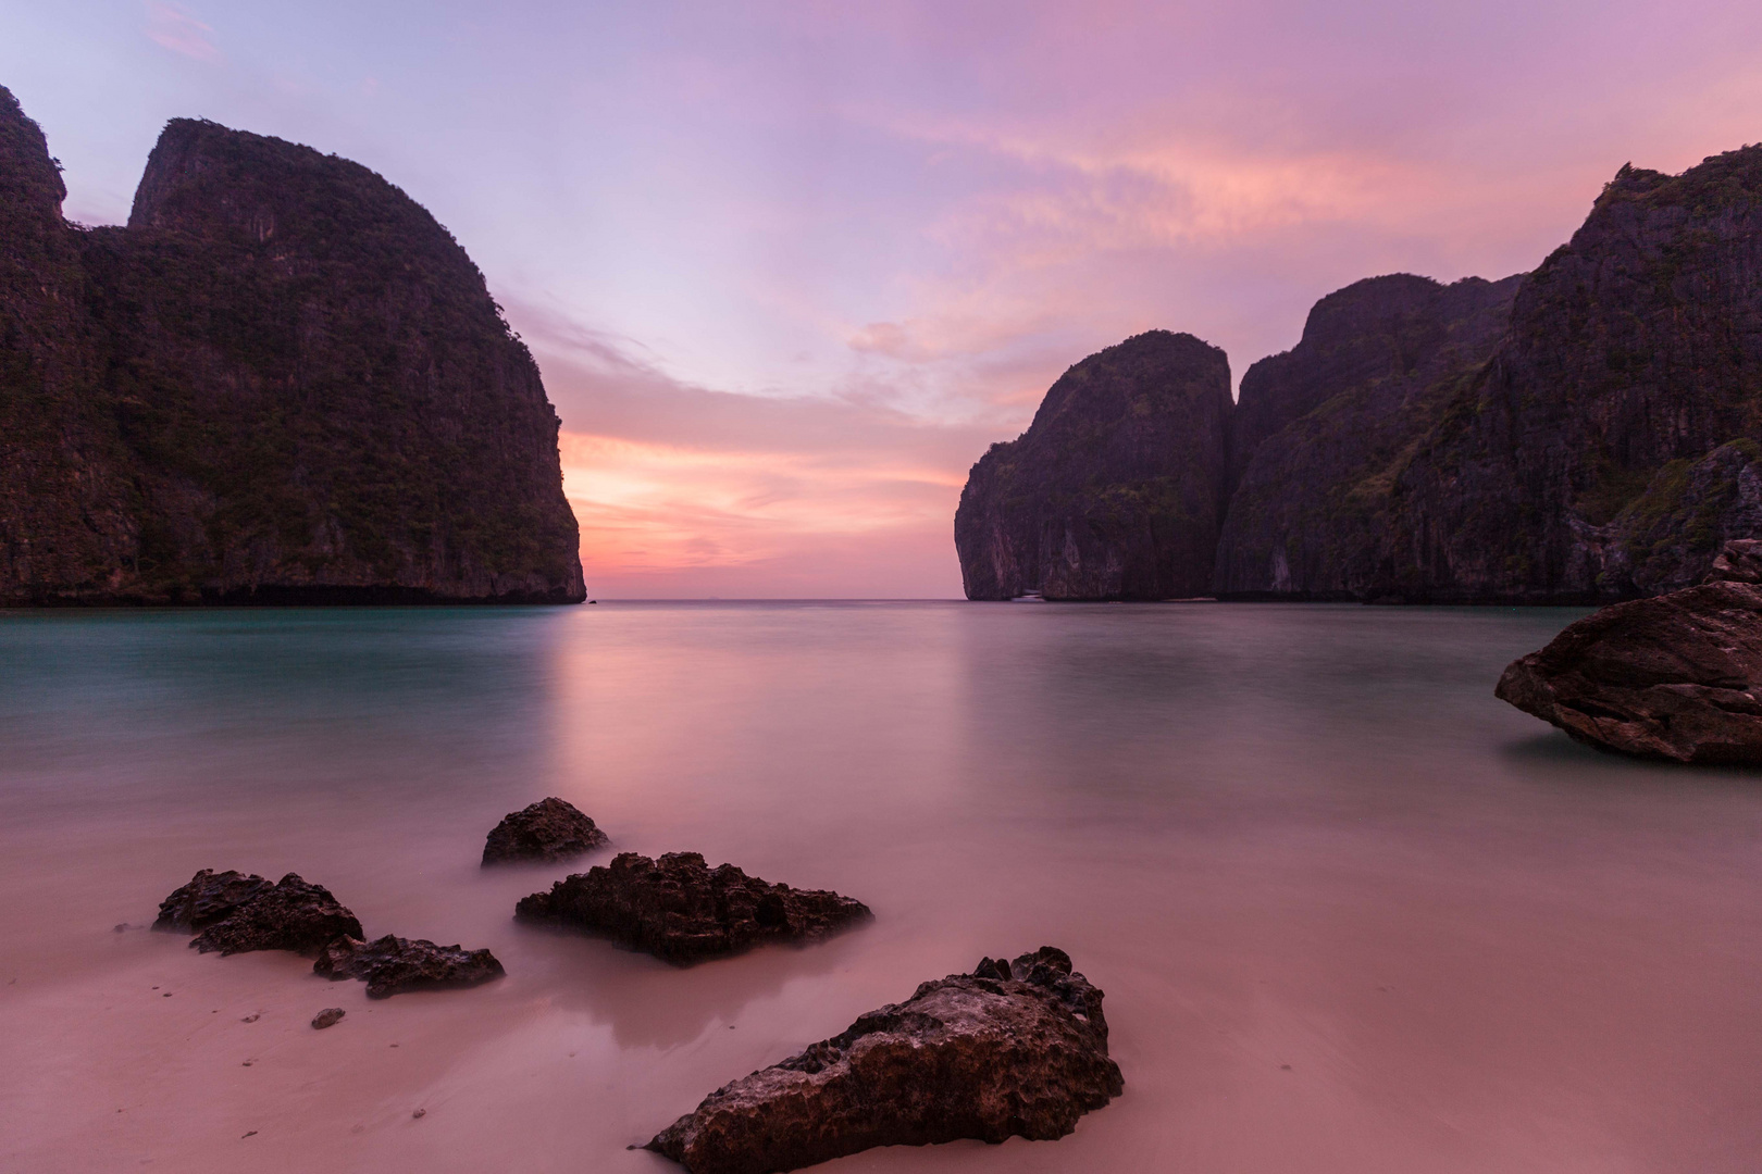
{"label": "leftmost dark rough rock on the wet pink sand", "polygon": [[365,936],[361,922],[329,889],[307,884],[300,873],[287,873],[271,885],[263,877],[206,868],[160,901],[155,926],[201,929],[190,945],[204,954],[315,954],[331,938]]}

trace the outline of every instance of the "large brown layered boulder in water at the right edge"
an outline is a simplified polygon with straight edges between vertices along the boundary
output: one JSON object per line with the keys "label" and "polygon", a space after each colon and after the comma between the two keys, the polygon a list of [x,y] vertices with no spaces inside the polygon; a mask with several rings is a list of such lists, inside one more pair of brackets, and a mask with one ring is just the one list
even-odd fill
{"label": "large brown layered boulder in water at the right edge", "polygon": [[1702,586],[1612,604],[1505,669],[1494,693],[1602,750],[1762,764],[1762,542]]}

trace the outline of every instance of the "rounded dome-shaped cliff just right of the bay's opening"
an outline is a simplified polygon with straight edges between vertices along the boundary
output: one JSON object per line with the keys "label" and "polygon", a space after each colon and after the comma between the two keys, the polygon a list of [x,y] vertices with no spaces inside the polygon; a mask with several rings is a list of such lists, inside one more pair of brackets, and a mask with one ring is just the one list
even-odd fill
{"label": "rounded dome-shaped cliff just right of the bay's opening", "polygon": [[1230,361],[1191,334],[1151,331],[1073,366],[960,493],[967,598],[1207,593],[1230,408]]}

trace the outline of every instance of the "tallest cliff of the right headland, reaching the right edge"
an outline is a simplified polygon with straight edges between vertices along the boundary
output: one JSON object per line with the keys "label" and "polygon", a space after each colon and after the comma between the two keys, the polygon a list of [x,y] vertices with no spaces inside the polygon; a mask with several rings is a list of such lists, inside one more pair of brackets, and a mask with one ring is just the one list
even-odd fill
{"label": "tallest cliff of the right headland, reaching the right edge", "polygon": [[1758,417],[1762,146],[1623,167],[1401,472],[1388,586],[1600,602],[1697,583],[1753,535]]}

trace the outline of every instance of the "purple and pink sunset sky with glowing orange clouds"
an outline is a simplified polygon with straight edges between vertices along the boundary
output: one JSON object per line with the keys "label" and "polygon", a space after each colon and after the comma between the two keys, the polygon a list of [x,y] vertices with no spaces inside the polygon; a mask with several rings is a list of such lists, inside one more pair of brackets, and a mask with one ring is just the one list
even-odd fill
{"label": "purple and pink sunset sky with glowing orange clouds", "polygon": [[0,0],[0,84],[83,224],[176,116],[426,206],[592,595],[946,598],[1068,366],[1163,327],[1239,380],[1359,278],[1535,268],[1625,162],[1762,141],[1762,4]]}

